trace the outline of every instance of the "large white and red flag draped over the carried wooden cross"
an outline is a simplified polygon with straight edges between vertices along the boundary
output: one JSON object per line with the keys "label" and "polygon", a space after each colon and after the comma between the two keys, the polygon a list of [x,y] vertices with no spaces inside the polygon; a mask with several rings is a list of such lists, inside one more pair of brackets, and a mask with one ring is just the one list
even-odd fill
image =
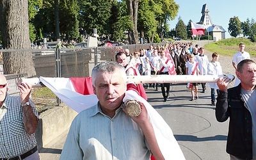
{"label": "large white and red flag draped over the carried wooden cross", "polygon": [[[67,106],[78,113],[84,109],[95,106],[99,101],[93,93],[91,77],[74,77],[74,78],[54,78],[40,77],[40,81],[57,95]],[[79,92],[79,93],[78,93]],[[84,95],[89,94],[89,95]],[[157,143],[164,156],[164,159],[185,159],[182,150],[175,137],[172,129],[164,121],[161,115],[157,113],[143,97],[138,95],[134,90],[127,90],[123,101],[135,99],[143,102],[148,112],[148,118],[154,129]]]}

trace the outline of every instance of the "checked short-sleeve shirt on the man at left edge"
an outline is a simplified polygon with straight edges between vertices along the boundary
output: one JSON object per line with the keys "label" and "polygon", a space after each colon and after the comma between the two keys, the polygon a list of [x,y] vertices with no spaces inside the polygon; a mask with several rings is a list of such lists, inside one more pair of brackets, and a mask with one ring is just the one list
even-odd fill
{"label": "checked short-sleeve shirt on the man at left edge", "polygon": [[[37,118],[38,112],[29,100],[33,113]],[[0,157],[10,158],[24,154],[36,146],[34,134],[27,134],[21,101],[19,96],[7,95],[3,106],[0,108]]]}

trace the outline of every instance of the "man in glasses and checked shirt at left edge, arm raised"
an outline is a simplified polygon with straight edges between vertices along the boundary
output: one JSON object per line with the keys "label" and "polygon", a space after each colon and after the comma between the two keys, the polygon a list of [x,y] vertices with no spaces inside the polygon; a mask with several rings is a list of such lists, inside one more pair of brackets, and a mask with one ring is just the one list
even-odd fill
{"label": "man in glasses and checked shirt at left edge, arm raised", "polygon": [[0,159],[39,159],[35,131],[38,112],[29,99],[31,85],[19,81],[20,96],[8,95],[0,74]]}

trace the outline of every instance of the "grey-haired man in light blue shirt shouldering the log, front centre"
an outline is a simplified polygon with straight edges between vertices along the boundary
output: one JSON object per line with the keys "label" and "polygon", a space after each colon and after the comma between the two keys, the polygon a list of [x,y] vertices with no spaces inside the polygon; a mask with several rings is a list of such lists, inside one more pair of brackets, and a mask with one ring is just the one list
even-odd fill
{"label": "grey-haired man in light blue shirt shouldering the log, front centre", "polygon": [[147,109],[140,116],[128,116],[122,100],[125,69],[116,62],[100,63],[92,70],[93,92],[99,102],[76,116],[60,159],[164,159]]}

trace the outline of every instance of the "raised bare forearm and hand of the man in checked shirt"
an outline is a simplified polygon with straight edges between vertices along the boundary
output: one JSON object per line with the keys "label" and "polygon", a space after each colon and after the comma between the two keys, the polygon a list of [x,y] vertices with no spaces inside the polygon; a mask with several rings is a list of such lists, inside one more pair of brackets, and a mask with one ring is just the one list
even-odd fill
{"label": "raised bare forearm and hand of the man in checked shirt", "polygon": [[[20,100],[21,104],[29,102],[29,95],[31,93],[31,84],[28,83],[18,83],[18,88],[20,90]],[[21,106],[20,106],[21,107]],[[28,134],[33,134],[36,131],[38,125],[38,119],[33,113],[31,105],[22,107],[24,115],[24,127]]]}

